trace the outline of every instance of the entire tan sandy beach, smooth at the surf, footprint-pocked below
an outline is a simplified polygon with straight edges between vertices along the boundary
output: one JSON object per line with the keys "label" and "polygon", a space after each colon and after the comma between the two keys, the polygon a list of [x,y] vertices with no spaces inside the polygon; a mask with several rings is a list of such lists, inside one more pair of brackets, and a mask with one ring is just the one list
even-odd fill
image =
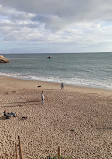
{"label": "entire tan sandy beach, smooth at the surf, footprint-pocked below", "polygon": [[0,158],[15,159],[18,135],[23,159],[54,156],[58,146],[71,159],[111,159],[112,91],[0,77]]}

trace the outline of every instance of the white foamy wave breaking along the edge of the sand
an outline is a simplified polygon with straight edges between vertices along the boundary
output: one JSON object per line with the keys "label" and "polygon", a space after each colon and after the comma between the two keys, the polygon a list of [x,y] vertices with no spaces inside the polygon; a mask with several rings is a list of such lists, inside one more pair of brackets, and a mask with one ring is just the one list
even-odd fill
{"label": "white foamy wave breaking along the edge of the sand", "polygon": [[81,79],[81,78],[59,78],[59,77],[47,77],[47,76],[33,76],[33,75],[24,75],[20,73],[0,73],[0,76],[5,77],[14,77],[17,79],[23,80],[37,80],[37,81],[47,81],[47,82],[55,82],[61,83],[64,82],[67,85],[74,86],[84,86],[84,87],[92,87],[92,88],[101,88],[112,90],[112,84],[107,81],[98,81],[98,80],[90,80],[90,79]]}

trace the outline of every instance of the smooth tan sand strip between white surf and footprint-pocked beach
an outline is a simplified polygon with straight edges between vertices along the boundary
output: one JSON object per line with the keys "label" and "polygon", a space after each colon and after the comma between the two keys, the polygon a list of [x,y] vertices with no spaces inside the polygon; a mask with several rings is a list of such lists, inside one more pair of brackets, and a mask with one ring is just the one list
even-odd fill
{"label": "smooth tan sand strip between white surf and footprint-pocked beach", "polygon": [[[3,81],[2,81],[3,80]],[[6,83],[10,83],[6,86]],[[40,89],[60,89],[60,83],[56,82],[49,82],[49,81],[39,81],[39,80],[27,80],[27,79],[19,79],[16,77],[6,77],[0,76],[0,87],[4,87],[5,89],[13,89],[13,83],[15,83],[16,88],[38,88],[38,85],[41,85]],[[112,95],[112,90],[103,89],[103,88],[93,88],[93,87],[86,87],[86,86],[74,86],[64,84],[67,91],[74,91],[74,92],[83,92],[83,93],[96,93],[100,95]]]}

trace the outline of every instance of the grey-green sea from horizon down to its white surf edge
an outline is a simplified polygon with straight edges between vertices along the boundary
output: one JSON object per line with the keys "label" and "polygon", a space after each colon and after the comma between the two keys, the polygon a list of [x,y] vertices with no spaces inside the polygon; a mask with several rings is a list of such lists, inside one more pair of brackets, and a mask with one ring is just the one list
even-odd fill
{"label": "grey-green sea from horizon down to its white surf edge", "polygon": [[[0,76],[112,90],[112,53],[6,54]],[[47,57],[51,56],[51,59]]]}

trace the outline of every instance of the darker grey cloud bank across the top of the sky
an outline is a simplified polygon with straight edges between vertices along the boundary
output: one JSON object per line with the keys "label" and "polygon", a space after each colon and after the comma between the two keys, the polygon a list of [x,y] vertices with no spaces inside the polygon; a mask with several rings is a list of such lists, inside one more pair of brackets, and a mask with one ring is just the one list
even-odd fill
{"label": "darker grey cloud bank across the top of the sky", "polygon": [[111,0],[5,0],[3,6],[27,13],[57,16],[66,21],[112,19]]}

